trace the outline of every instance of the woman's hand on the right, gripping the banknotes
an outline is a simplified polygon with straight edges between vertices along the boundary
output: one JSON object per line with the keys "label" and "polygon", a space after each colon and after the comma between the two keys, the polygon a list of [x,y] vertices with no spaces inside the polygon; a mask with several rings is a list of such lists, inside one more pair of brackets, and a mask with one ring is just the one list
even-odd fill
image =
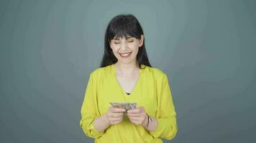
{"label": "woman's hand on the right, gripping the banknotes", "polygon": [[133,124],[142,125],[147,127],[147,114],[144,107],[138,107],[136,109],[131,109],[127,112],[127,117]]}

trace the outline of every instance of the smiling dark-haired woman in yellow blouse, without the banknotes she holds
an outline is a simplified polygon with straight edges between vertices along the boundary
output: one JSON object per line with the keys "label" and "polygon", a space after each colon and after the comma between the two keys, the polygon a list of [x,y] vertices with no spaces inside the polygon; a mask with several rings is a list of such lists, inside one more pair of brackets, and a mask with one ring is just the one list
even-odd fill
{"label": "smiling dark-haired woman in yellow blouse, without the banknotes she holds", "polygon": [[[136,109],[111,107],[133,102]],[[139,21],[115,16],[105,34],[101,68],[89,77],[80,125],[95,142],[163,142],[178,130],[168,77],[150,66]]]}

